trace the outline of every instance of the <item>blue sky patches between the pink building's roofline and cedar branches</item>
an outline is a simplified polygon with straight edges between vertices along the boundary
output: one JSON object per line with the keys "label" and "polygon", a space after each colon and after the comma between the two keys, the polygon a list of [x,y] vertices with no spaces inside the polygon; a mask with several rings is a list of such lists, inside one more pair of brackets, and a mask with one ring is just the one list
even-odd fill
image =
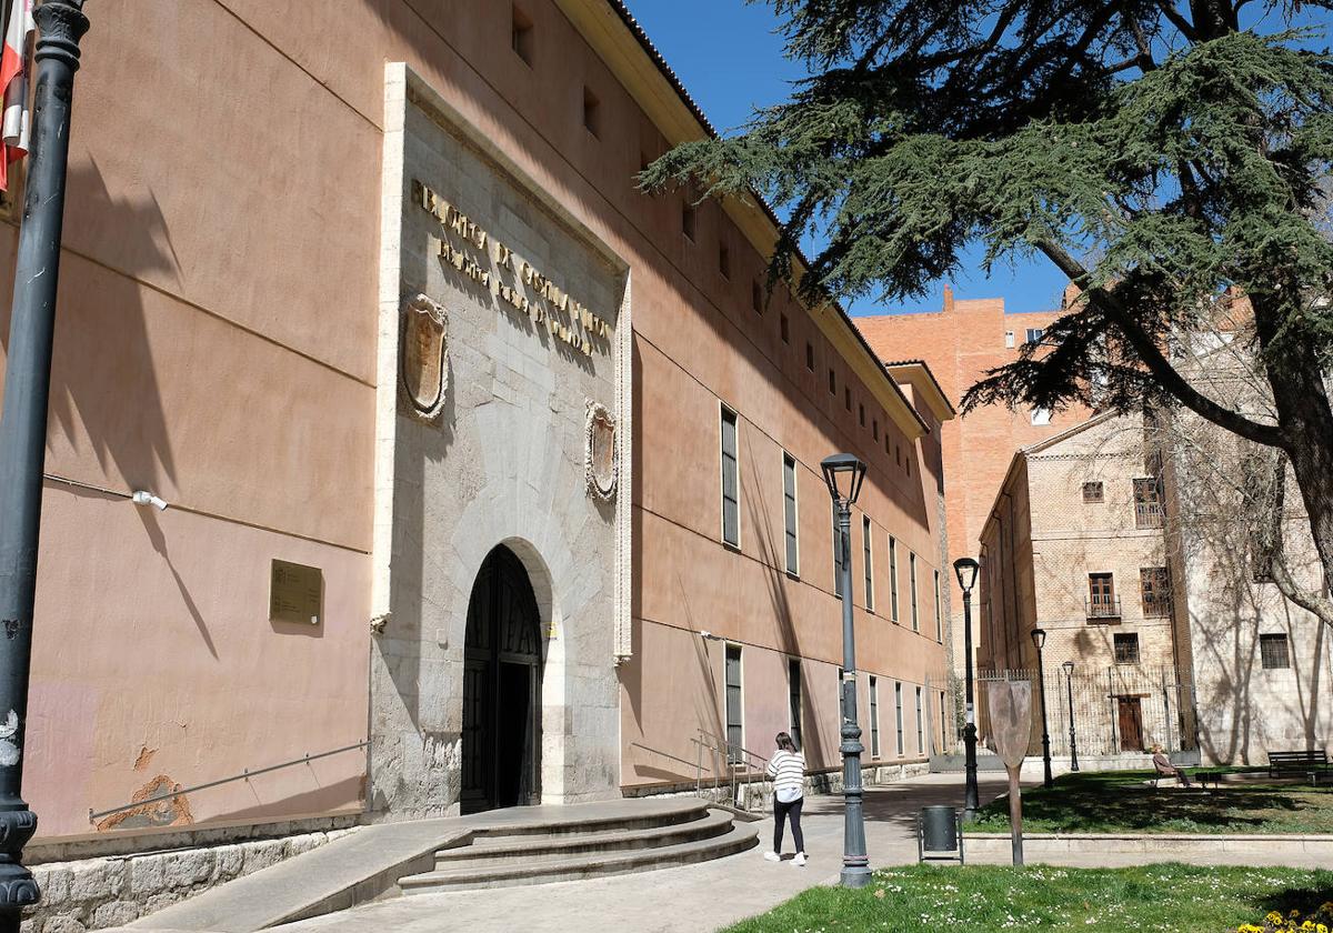
{"label": "blue sky patches between the pink building's roofline and cedar branches", "polygon": [[[789,83],[804,73],[782,57],[782,40],[774,29],[770,7],[744,0],[627,0],[635,19],[676,71],[704,113],[726,133],[745,123],[754,107],[776,104],[788,95]],[[1018,268],[997,267],[990,277],[973,261],[966,275],[954,279],[953,293],[964,299],[1005,299],[1006,311],[1045,311],[1060,307],[1065,279],[1046,260]],[[897,307],[874,300],[850,307],[853,315],[896,311],[938,311],[944,283],[930,295],[908,299]]]}

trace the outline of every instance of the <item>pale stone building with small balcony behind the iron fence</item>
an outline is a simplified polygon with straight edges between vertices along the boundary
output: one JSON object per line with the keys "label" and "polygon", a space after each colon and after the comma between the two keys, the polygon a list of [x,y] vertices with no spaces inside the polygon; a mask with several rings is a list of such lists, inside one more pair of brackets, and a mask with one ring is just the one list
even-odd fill
{"label": "pale stone building with small balcony behind the iron fence", "polygon": [[978,666],[1032,676],[1032,633],[1046,633],[1057,754],[1068,753],[1070,694],[1084,754],[1194,746],[1166,517],[1161,459],[1141,416],[1097,415],[1009,465],[981,532]]}

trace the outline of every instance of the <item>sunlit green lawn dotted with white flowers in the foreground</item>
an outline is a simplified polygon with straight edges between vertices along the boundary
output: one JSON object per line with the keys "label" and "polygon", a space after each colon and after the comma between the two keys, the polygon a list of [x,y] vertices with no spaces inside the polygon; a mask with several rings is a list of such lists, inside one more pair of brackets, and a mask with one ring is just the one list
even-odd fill
{"label": "sunlit green lawn dotted with white flowers in the foreground", "polygon": [[1077,869],[912,865],[861,890],[812,888],[728,933],[833,930],[1084,930],[1225,933],[1269,910],[1310,914],[1333,872],[1288,868]]}

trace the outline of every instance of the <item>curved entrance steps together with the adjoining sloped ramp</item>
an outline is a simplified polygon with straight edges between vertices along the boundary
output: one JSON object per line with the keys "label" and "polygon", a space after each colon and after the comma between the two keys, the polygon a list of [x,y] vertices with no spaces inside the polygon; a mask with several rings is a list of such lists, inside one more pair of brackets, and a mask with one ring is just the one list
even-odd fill
{"label": "curved entrance steps together with the adjoining sloped ramp", "polygon": [[721,858],[757,841],[756,824],[698,797],[384,822],[173,904],[131,929],[257,933],[381,897],[647,872]]}

